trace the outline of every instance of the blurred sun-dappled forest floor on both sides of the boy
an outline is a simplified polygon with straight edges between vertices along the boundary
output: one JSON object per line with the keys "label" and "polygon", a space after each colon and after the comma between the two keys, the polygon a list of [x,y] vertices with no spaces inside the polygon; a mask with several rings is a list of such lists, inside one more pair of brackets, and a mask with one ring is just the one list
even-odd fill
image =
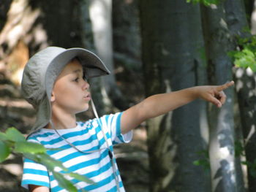
{"label": "blurred sun-dappled forest floor on both sides of the boy", "polygon": [[[7,80],[0,82],[0,131],[9,127],[18,128],[27,134],[34,123],[34,110],[20,96],[19,87]],[[129,144],[115,148],[118,167],[127,192],[148,191],[148,154],[146,149],[146,130],[142,125],[134,131]],[[12,154],[0,164],[0,191],[26,191],[20,187],[22,157]]]}

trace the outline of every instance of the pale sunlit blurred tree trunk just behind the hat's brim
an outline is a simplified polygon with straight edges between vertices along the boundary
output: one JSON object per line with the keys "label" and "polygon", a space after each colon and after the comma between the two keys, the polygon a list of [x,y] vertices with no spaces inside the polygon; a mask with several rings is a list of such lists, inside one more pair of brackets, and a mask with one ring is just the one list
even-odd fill
{"label": "pale sunlit blurred tree trunk just behind the hat's brim", "polygon": [[112,72],[112,74],[102,77],[100,86],[105,111],[110,112],[113,105],[124,110],[126,108],[125,100],[116,85],[113,66],[112,0],[90,0],[89,14],[97,54]]}

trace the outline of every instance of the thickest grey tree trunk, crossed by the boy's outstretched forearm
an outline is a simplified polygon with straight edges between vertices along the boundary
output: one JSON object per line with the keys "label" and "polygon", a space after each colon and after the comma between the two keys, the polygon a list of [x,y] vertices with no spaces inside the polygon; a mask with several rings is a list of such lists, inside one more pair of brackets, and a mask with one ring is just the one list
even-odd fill
{"label": "thickest grey tree trunk, crossed by the boy's outstretched forearm", "polygon": [[[178,0],[140,1],[140,19],[147,96],[206,83],[198,5]],[[194,101],[148,120],[150,191],[209,191],[209,177],[193,164],[202,158],[198,152],[207,145],[205,107]]]}

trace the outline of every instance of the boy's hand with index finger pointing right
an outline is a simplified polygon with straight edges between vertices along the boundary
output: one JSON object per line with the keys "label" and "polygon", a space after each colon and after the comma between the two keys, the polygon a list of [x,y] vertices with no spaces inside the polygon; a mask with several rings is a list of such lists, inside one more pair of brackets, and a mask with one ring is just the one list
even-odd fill
{"label": "boy's hand with index finger pointing right", "polygon": [[226,101],[226,95],[223,91],[232,85],[234,85],[234,82],[230,81],[223,85],[199,86],[197,88],[199,88],[200,99],[205,99],[206,101],[215,104],[217,107],[222,107],[222,104]]}

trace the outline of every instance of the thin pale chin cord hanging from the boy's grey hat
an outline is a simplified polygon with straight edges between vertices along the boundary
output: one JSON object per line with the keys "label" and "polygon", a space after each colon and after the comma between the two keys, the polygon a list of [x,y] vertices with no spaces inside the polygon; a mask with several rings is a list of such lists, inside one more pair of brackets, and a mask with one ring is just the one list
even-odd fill
{"label": "thin pale chin cord hanging from the boy's grey hat", "polygon": [[[119,187],[119,180],[118,180],[118,175],[117,175],[117,169],[116,169],[116,164],[115,164],[115,161],[114,161],[114,158],[113,158],[113,153],[110,149],[110,145],[108,144],[108,139],[106,137],[106,134],[103,130],[103,125],[102,123],[100,122],[99,120],[99,116],[98,116],[98,113],[97,113],[97,110],[96,110],[96,107],[94,105],[94,101],[91,99],[91,107],[92,107],[92,110],[94,111],[94,115],[95,117],[97,118],[97,122],[99,123],[99,126],[100,126],[100,129],[102,131],[102,135],[105,139],[105,143],[107,145],[107,149],[108,149],[108,155],[110,157],[110,161],[111,161],[111,164],[112,164],[112,170],[113,170],[113,174],[114,174],[114,177],[115,177],[115,181],[116,181],[116,188],[117,188],[117,191],[118,192],[121,192],[120,191],[120,187]],[[99,152],[101,150],[105,150],[106,148],[102,148],[102,149],[99,149],[99,150],[90,150],[90,151],[83,151],[83,150],[80,150],[78,149],[78,147],[75,147],[75,145],[73,145],[71,142],[67,141],[67,139],[65,139],[61,134],[59,134],[59,131],[55,128],[54,124],[53,124],[53,121],[50,119],[49,121],[50,123],[50,126],[56,131],[56,133],[59,135],[59,137],[61,137],[61,139],[63,139],[65,142],[67,142],[68,145],[70,145],[71,147],[73,147],[75,150],[78,150],[80,153],[83,153],[83,154],[88,154],[88,153],[94,153],[94,152]]]}

